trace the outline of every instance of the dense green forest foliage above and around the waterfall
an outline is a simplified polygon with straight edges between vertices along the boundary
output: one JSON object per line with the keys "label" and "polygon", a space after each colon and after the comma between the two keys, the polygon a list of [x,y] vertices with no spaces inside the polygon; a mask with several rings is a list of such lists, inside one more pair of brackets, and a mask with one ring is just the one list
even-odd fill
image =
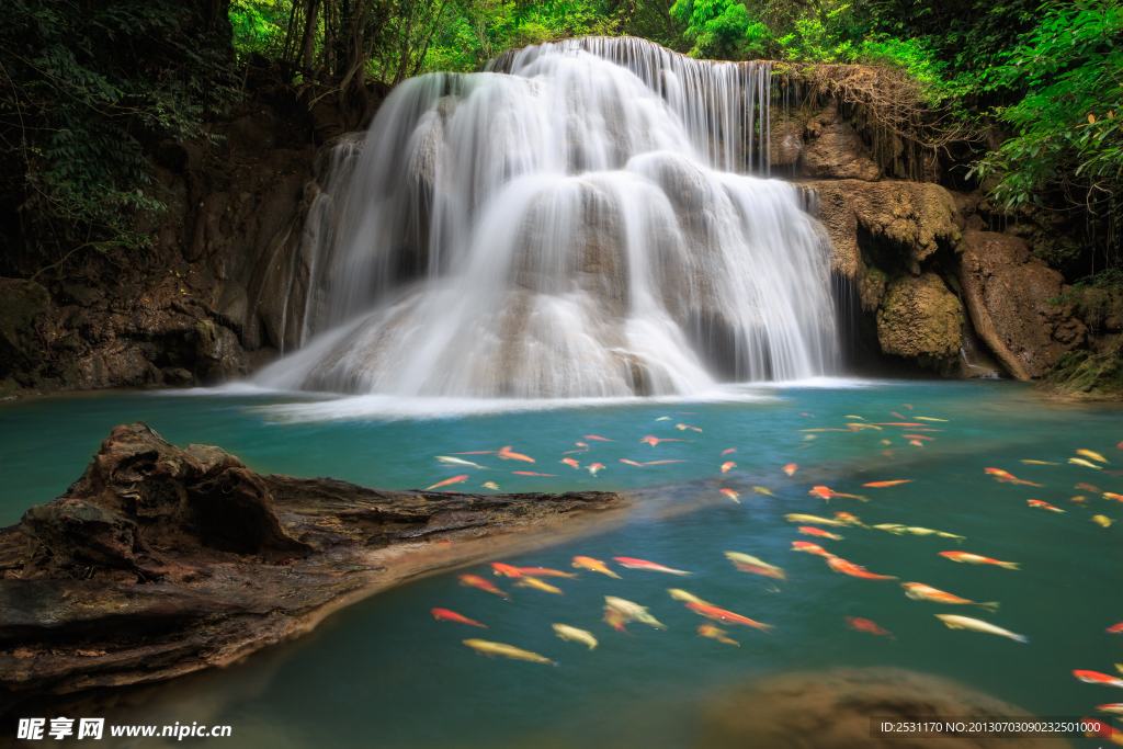
{"label": "dense green forest foliage above and around the waterfall", "polygon": [[809,76],[891,71],[912,92],[911,127],[958,147],[961,179],[1011,212],[1083,220],[1080,248],[1053,258],[1070,281],[1123,278],[1123,0],[8,0],[0,274],[143,247],[134,217],[165,200],[146,149],[213,138],[208,122],[263,75],[305,107],[335,98],[359,125],[373,92],[409,76],[582,35]]}

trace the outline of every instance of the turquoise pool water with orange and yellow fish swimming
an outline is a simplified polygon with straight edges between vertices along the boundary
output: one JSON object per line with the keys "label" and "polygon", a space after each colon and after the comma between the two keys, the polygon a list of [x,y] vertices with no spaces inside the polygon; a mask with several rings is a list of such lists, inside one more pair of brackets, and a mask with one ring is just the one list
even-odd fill
{"label": "turquoise pool water with orange and yellow fish swimming", "polygon": [[[1071,675],[1074,669],[1114,673],[1113,664],[1123,663],[1123,638],[1104,632],[1123,620],[1115,594],[1123,573],[1123,523],[1103,528],[1092,520],[1123,520],[1123,508],[1102,494],[1123,493],[1123,450],[1115,447],[1123,439],[1119,407],[1043,402],[1016,383],[869,382],[755,393],[767,398],[391,419],[345,413],[344,400],[294,401],[268,393],[25,401],[0,408],[0,513],[3,522],[16,522],[26,506],[60,494],[109,429],[133,420],[146,421],[177,445],[221,445],[256,471],[332,475],[386,488],[428,486],[460,473],[471,476],[458,484],[466,491],[485,491],[478,487],[485,481],[512,492],[673,487],[652,492],[666,500],[651,505],[658,511],[489,560],[579,573],[579,579],[546,581],[563,595],[513,587],[514,581],[494,577],[482,561],[367,599],[310,636],[241,665],[133,692],[111,707],[82,713],[121,723],[230,724],[231,746],[688,747],[711,739],[711,746],[725,746],[713,743],[718,697],[741,694],[739,685],[747,681],[836,668],[893,667],[952,679],[1046,716],[1095,715],[1096,705],[1119,698],[1111,687]],[[328,418],[331,408],[339,409],[339,418]],[[319,412],[314,419],[277,418],[300,409]],[[905,420],[916,417],[947,421]],[[880,428],[851,430],[848,422]],[[676,423],[702,431],[679,430]],[[915,446],[905,435],[932,439]],[[660,441],[643,444],[646,436]],[[588,450],[566,456],[582,449],[575,447],[578,441]],[[466,456],[490,468],[477,471],[435,459],[503,446],[536,463]],[[1067,463],[1081,448],[1108,463],[1092,460],[1099,469]],[[730,449],[736,453],[722,455]],[[581,468],[562,464],[563,457],[574,457]],[[737,466],[721,473],[731,459]],[[584,469],[593,462],[606,466],[596,476]],[[782,468],[793,463],[798,467],[787,476]],[[555,475],[512,473],[523,468]],[[995,481],[985,468],[1042,486]],[[865,486],[903,479],[911,483]],[[1078,483],[1098,492],[1076,488]],[[838,496],[824,500],[809,493],[813,486]],[[721,488],[734,490],[740,503]],[[1086,500],[1070,502],[1077,495]],[[1031,506],[1029,500],[1065,512]],[[691,511],[667,511],[683,503]],[[798,532],[807,523],[785,519],[830,520],[836,512],[869,528],[811,523],[842,537],[812,538]],[[965,538],[886,532],[876,526]],[[794,552],[793,541],[813,541],[828,554],[900,579],[838,574],[821,556]],[[1020,569],[953,564],[941,551],[1013,561]],[[606,563],[620,578],[575,569],[577,556]],[[746,556],[780,568],[784,578],[742,572],[731,561],[760,567]],[[614,557],[691,574],[629,568]],[[511,600],[463,587],[458,574],[490,579]],[[990,613],[912,600],[902,582],[1001,606]],[[700,615],[686,605],[691,601],[673,597],[668,588],[773,629]],[[627,632],[614,630],[602,621],[605,596],[646,608],[666,630],[638,621],[627,623]],[[487,629],[438,621],[433,608]],[[937,614],[978,619],[1030,642],[951,630]],[[893,638],[855,628],[858,620]],[[555,623],[591,632],[597,647],[558,638]],[[739,647],[700,633],[701,624],[724,630]],[[463,643],[472,638],[540,654],[558,666],[476,655]],[[765,720],[779,707],[754,697],[741,713],[756,725],[752,715]],[[807,740],[805,746],[843,746],[841,739]],[[1099,746],[1084,738],[1070,741]]]}

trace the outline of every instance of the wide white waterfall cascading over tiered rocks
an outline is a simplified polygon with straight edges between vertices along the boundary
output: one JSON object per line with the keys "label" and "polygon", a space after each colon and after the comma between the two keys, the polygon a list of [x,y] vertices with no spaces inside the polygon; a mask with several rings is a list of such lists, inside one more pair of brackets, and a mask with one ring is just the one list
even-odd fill
{"label": "wide white waterfall cascading over tiered rocks", "polygon": [[800,188],[746,173],[768,168],[766,64],[585,38],[490,67],[383,103],[320,198],[301,330],[325,332],[259,382],[574,398],[833,373],[825,234]]}

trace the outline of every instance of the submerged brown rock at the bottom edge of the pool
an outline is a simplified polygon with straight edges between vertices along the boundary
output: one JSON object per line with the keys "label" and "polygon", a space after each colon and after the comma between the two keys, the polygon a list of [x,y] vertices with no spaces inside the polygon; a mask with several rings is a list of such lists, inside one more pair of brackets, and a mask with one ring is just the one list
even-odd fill
{"label": "submerged brown rock at the bottom edge of the pool", "polygon": [[765,677],[721,695],[704,711],[697,749],[1066,749],[1059,737],[904,734],[877,738],[871,719],[1008,720],[1024,710],[950,679],[900,668],[837,668]]}

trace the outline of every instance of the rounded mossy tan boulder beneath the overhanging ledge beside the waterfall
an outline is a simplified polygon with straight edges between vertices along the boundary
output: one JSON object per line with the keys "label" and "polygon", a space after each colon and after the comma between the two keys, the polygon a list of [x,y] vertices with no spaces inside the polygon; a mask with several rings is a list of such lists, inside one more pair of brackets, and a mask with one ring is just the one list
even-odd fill
{"label": "rounded mossy tan boulder beneath the overhanging ledge beside the waterfall", "polygon": [[877,311],[885,354],[915,359],[941,374],[958,368],[962,308],[934,273],[893,281]]}

